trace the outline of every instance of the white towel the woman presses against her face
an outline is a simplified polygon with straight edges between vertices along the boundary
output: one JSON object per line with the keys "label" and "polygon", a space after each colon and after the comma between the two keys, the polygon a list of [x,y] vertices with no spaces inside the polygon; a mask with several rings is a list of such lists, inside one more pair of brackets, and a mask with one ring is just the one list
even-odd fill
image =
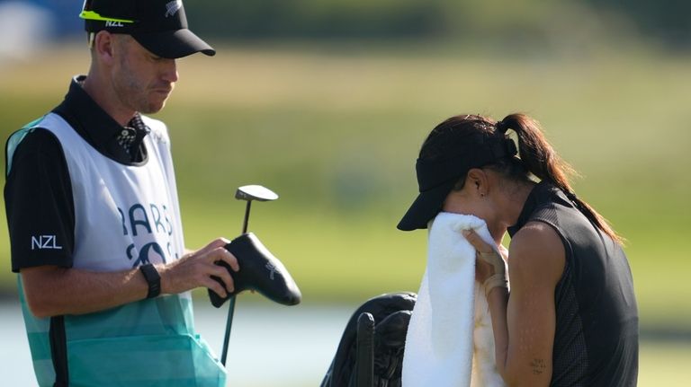
{"label": "white towel the woman presses against her face", "polygon": [[505,385],[497,373],[487,299],[475,281],[475,249],[461,233],[467,229],[494,245],[476,216],[443,212],[429,227],[427,267],[403,355],[403,387]]}

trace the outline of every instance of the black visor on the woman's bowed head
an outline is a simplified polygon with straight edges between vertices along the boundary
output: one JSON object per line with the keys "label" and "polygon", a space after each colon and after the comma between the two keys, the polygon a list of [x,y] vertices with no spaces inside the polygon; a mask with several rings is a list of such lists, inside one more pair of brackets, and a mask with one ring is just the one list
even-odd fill
{"label": "black visor on the woman's bowed head", "polygon": [[471,168],[480,168],[517,153],[516,144],[510,138],[480,135],[471,136],[462,145],[449,146],[445,157],[417,159],[415,170],[420,193],[400,220],[399,230],[427,228],[427,223],[441,211],[453,186]]}

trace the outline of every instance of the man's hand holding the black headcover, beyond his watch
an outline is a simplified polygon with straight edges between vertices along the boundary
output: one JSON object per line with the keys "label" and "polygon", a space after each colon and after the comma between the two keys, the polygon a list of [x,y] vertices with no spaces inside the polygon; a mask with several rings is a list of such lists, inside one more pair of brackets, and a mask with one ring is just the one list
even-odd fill
{"label": "man's hand holding the black headcover, beyond his watch", "polygon": [[[196,287],[204,286],[217,295],[225,297],[233,291],[233,278],[226,268],[216,265],[222,260],[228,263],[233,271],[238,271],[238,259],[225,249],[229,241],[224,238],[216,239],[201,250],[185,254],[167,265],[157,265],[161,276],[161,293],[177,294]],[[211,276],[219,277],[225,288]]]}

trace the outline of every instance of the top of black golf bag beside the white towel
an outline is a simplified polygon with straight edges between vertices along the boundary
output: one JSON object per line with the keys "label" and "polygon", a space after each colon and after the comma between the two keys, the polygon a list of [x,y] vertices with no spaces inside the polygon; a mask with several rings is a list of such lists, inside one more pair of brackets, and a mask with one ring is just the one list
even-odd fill
{"label": "top of black golf bag beside the white towel", "polygon": [[400,387],[416,300],[415,293],[390,293],[363,303],[347,322],[320,387]]}

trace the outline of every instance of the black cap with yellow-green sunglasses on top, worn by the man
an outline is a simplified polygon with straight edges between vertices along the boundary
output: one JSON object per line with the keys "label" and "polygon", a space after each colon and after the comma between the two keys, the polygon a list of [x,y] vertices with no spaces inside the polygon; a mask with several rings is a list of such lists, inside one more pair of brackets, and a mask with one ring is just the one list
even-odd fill
{"label": "black cap with yellow-green sunglasses on top, worn by the man", "polygon": [[89,32],[131,35],[158,57],[186,57],[216,51],[187,28],[182,0],[85,0],[79,17]]}

